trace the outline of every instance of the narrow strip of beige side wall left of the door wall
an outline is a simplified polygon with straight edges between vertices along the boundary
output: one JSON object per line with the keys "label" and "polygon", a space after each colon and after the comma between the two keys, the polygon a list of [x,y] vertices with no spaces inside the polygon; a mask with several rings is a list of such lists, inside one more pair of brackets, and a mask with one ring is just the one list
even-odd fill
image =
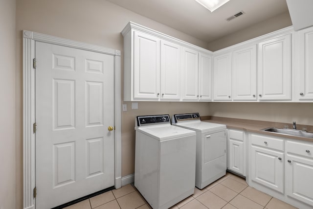
{"label": "narrow strip of beige side wall left of the door wall", "polygon": [[0,0],[0,209],[15,208],[15,0]]}

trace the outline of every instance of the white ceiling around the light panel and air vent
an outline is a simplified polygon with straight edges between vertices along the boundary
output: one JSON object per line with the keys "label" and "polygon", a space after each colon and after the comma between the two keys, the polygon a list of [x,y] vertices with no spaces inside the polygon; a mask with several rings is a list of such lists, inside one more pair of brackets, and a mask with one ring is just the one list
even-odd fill
{"label": "white ceiling around the light panel and air vent", "polygon": [[195,0],[108,1],[208,43],[288,11],[286,0],[230,0],[212,13]]}

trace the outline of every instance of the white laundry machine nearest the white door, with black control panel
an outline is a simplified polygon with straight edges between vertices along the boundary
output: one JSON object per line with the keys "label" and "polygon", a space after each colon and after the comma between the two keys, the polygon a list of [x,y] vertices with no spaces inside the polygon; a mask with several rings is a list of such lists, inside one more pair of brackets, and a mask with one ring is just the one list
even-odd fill
{"label": "white laundry machine nearest the white door, with black control panel", "polygon": [[137,116],[134,186],[153,209],[168,209],[195,189],[196,132],[169,115]]}

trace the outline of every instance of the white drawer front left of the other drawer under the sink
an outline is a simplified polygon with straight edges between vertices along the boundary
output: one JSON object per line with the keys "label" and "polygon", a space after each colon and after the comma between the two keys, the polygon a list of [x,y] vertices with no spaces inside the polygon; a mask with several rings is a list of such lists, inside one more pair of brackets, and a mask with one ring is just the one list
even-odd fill
{"label": "white drawer front left of the other drawer under the sink", "polygon": [[267,147],[270,149],[276,149],[280,151],[284,151],[284,140],[283,139],[275,139],[271,137],[259,136],[251,134],[251,143],[254,145]]}

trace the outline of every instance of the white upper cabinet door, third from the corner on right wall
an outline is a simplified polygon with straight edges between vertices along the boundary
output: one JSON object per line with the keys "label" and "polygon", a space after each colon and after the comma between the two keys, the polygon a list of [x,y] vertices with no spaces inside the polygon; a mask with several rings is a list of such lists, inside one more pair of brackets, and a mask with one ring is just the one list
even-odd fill
{"label": "white upper cabinet door, third from the corner on right wall", "polygon": [[259,100],[291,100],[291,34],[259,43]]}

